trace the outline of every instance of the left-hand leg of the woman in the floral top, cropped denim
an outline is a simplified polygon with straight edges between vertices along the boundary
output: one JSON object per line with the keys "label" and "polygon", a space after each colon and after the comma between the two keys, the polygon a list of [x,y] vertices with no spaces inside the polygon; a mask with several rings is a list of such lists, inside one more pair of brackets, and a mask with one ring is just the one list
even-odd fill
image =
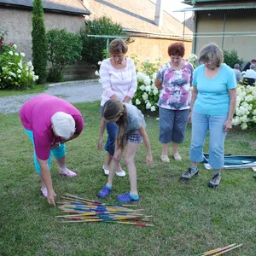
{"label": "left-hand leg of the woman in the floral top, cropped denim", "polygon": [[162,153],[160,159],[163,162],[170,162],[168,158],[168,143],[172,142],[172,128],[174,121],[174,111],[166,108],[159,108],[159,141],[162,143]]}

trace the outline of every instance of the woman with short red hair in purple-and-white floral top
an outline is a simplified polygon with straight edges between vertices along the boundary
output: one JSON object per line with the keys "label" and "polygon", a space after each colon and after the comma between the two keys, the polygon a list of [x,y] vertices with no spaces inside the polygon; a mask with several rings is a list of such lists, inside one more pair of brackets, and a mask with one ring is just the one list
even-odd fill
{"label": "woman with short red hair in purple-and-white floral top", "polygon": [[159,115],[160,137],[163,145],[160,159],[170,162],[168,143],[172,144],[174,160],[182,160],[178,153],[178,145],[183,143],[191,102],[190,86],[193,78],[193,67],[183,61],[185,48],[182,43],[174,43],[168,47],[171,60],[160,68],[154,81],[160,90]]}

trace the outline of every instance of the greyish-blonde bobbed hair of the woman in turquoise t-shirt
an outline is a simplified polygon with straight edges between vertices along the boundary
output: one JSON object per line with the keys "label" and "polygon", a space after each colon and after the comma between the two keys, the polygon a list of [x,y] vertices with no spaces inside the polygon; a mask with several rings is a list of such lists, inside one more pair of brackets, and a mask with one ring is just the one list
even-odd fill
{"label": "greyish-blonde bobbed hair of the woman in turquoise t-shirt", "polygon": [[212,61],[212,68],[220,67],[223,63],[224,57],[222,50],[217,44],[207,44],[205,45],[199,54],[199,61],[207,62]]}

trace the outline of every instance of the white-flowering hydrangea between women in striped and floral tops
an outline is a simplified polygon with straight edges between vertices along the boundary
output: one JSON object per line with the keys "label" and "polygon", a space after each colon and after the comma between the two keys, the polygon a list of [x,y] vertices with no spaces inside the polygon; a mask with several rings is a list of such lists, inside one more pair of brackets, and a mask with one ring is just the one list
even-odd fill
{"label": "white-flowering hydrangea between women in striped and floral tops", "polygon": [[154,79],[162,56],[159,56],[154,62],[150,62],[149,58],[146,58],[142,63],[137,60],[137,55],[132,55],[131,58],[137,67],[137,91],[132,98],[132,103],[142,111],[148,109],[154,112],[158,109],[157,102],[160,95],[160,90],[154,86]]}

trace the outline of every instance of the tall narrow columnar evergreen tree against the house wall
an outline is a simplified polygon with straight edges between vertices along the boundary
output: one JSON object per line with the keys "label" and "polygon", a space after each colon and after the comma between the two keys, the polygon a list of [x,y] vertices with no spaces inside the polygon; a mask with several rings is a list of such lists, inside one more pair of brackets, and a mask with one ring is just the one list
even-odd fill
{"label": "tall narrow columnar evergreen tree against the house wall", "polygon": [[33,0],[32,63],[39,77],[38,83],[44,83],[47,77],[47,41],[42,0]]}

